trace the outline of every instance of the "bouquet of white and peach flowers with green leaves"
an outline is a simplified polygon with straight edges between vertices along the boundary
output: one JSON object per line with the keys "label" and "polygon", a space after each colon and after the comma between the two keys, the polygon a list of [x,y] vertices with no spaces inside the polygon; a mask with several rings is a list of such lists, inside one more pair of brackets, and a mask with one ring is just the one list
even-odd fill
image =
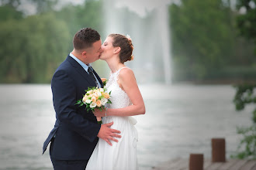
{"label": "bouquet of white and peach flowers with green leaves", "polygon": [[[88,87],[88,90],[85,90],[85,95],[83,98],[79,99],[76,104],[79,107],[85,105],[87,111],[94,111],[95,108],[99,110],[105,109],[105,104],[112,104],[110,98],[110,93],[106,92],[106,88],[99,87]],[[102,117],[97,117],[98,124],[102,124]]]}

